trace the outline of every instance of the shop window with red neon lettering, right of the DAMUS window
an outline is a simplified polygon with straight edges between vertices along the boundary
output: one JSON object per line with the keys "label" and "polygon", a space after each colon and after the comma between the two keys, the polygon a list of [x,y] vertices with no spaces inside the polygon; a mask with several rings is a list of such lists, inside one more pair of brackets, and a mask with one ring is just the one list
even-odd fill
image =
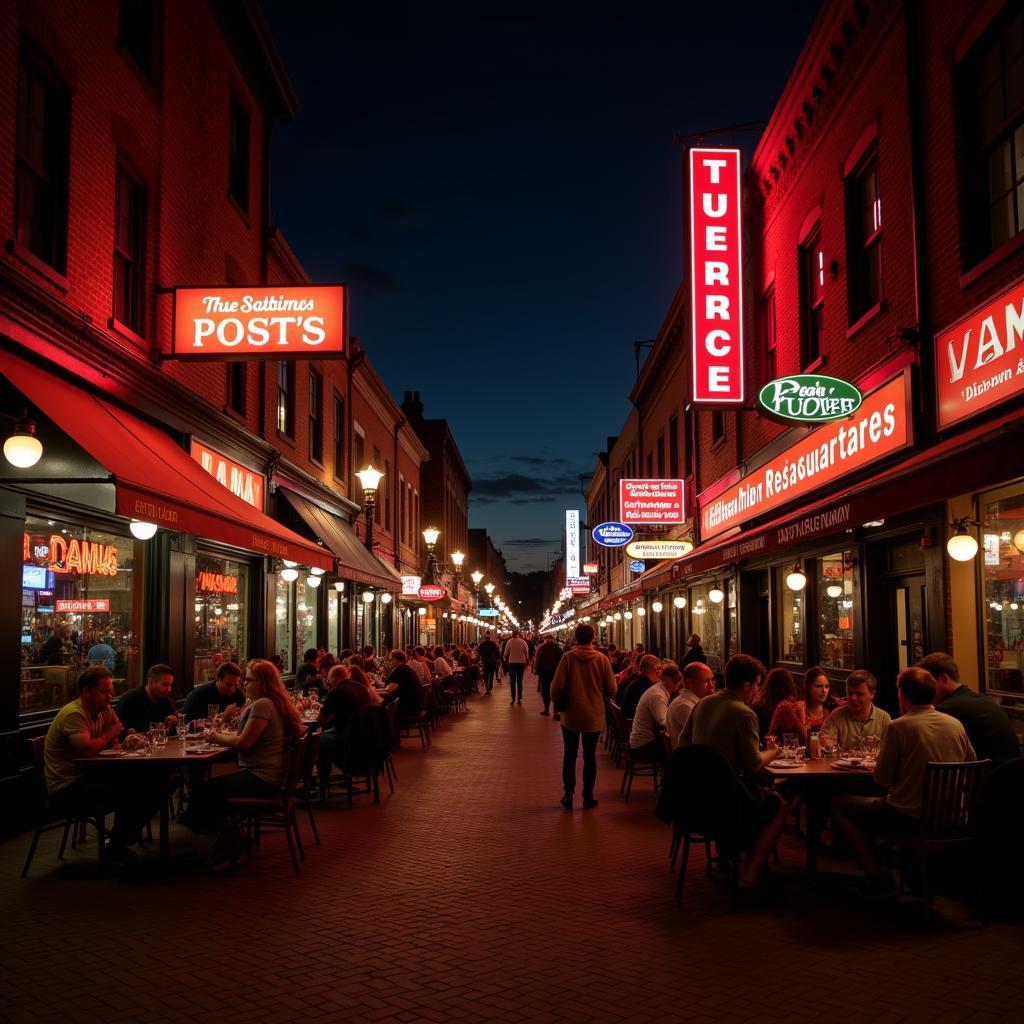
{"label": "shop window with red neon lettering, right of the DAMUS window", "polygon": [[193,680],[209,682],[224,662],[249,658],[249,566],[227,558],[196,559],[196,653]]}

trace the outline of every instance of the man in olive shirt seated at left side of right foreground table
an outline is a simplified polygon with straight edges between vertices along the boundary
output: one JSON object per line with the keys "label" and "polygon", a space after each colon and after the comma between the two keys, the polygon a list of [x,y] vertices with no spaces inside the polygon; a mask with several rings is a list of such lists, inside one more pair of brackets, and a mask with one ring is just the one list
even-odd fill
{"label": "man in olive shirt seated at left side of right foreground table", "polygon": [[714,748],[736,772],[744,824],[757,837],[739,872],[740,890],[752,894],[758,891],[758,878],[790,813],[790,805],[777,793],[755,780],[778,754],[774,744],[759,750],[758,717],[750,707],[764,674],[765,667],[756,657],[733,654],[725,665],[725,687],[697,702],[679,740],[681,746]]}

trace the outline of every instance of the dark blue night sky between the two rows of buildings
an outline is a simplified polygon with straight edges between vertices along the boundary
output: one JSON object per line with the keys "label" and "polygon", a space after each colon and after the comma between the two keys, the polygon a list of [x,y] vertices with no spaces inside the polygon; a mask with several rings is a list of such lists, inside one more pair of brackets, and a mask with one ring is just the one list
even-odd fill
{"label": "dark blue night sky between the two rows of buildings", "polygon": [[470,525],[546,568],[680,280],[673,136],[766,120],[820,3],[434,6],[264,0],[302,103],[274,219],[450,421]]}

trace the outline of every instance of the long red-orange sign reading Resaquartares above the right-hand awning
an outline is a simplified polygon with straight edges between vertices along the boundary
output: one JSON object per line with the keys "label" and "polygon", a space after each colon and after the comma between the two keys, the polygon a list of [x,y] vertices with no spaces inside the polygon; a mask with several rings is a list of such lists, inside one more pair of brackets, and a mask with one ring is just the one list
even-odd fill
{"label": "long red-orange sign reading Resaquartares above the right-hand awning", "polygon": [[708,541],[907,447],[910,378],[901,372],[865,395],[853,417],[820,426],[713,497],[703,495],[700,539]]}

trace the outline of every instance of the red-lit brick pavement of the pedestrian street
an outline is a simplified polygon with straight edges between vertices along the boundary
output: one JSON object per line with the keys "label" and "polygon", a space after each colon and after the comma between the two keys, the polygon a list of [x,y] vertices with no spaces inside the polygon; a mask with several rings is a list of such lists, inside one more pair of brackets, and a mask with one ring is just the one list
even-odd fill
{"label": "red-lit brick pavement of the pedestrian street", "polygon": [[[0,846],[0,1019],[1021,1019],[1016,925],[928,927],[913,906],[799,881],[780,904],[730,912],[699,854],[680,910],[649,781],[627,806],[602,753],[600,806],[563,811],[558,729],[531,679],[526,693],[522,708],[501,689],[472,699],[428,752],[403,743],[394,796],[321,813],[299,879],[280,837],[234,879],[104,878],[91,846],[58,869],[50,836],[23,882],[27,840]],[[782,867],[799,859],[787,840]]]}

